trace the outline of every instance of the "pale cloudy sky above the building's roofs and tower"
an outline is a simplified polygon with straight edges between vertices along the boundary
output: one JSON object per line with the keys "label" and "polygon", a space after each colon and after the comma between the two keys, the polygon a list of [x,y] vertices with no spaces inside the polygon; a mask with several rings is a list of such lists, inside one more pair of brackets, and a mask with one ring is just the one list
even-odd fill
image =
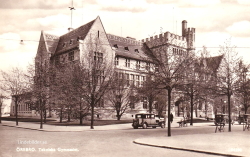
{"label": "pale cloudy sky above the building's roofs and tower", "polygon": [[[25,68],[32,62],[41,30],[65,34],[71,25],[71,3],[0,0],[0,69]],[[250,63],[250,0],[74,0],[73,5],[73,28],[100,16],[107,33],[141,40],[166,31],[181,35],[181,21],[186,20],[188,27],[196,28],[197,51],[207,46],[216,53],[211,47],[231,38]]]}

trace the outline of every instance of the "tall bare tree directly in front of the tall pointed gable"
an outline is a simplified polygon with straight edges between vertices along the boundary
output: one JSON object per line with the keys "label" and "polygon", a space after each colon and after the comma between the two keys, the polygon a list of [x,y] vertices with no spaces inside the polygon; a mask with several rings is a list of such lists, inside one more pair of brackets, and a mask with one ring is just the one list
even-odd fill
{"label": "tall bare tree directly in front of the tall pointed gable", "polygon": [[[94,129],[95,107],[104,107],[104,94],[107,92],[113,76],[114,54],[108,41],[102,40],[102,34],[90,34],[84,41],[80,41],[80,49],[83,53],[78,64],[78,70],[83,75],[80,81],[81,96],[91,110],[91,129]],[[107,49],[110,51],[107,51]]]}

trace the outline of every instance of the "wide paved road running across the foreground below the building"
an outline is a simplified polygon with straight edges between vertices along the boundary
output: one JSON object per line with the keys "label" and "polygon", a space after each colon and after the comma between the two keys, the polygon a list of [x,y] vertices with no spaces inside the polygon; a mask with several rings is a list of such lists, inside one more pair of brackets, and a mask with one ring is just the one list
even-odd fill
{"label": "wide paved road running across the foreground below the building", "polygon": [[[214,127],[173,128],[172,136],[182,134],[213,133]],[[33,157],[33,156],[87,156],[87,157],[199,157],[213,156],[188,151],[141,146],[133,140],[144,137],[159,137],[167,140],[167,129],[124,129],[108,131],[83,132],[41,132],[0,125],[0,154],[3,157]],[[24,141],[38,141],[40,144],[21,144]],[[194,139],[195,140],[195,139]],[[35,152],[21,151],[21,148],[31,148]],[[40,151],[39,151],[40,148]],[[42,151],[42,148],[52,148],[55,151]],[[58,150],[71,149],[60,152]]]}

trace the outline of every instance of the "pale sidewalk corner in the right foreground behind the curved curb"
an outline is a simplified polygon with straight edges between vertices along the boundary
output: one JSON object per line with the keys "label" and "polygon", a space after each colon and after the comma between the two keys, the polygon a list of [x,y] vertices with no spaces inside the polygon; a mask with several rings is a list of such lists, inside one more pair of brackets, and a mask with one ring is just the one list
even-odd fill
{"label": "pale sidewalk corner in the right foreground behind the curved curb", "polygon": [[223,132],[142,138],[134,143],[223,156],[250,156],[250,132]]}

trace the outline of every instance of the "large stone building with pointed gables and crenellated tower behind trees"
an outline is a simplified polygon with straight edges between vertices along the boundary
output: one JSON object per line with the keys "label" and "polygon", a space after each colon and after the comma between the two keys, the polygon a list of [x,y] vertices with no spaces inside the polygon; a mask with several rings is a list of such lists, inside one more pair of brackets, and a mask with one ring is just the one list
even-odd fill
{"label": "large stone building with pointed gables and crenellated tower behind trees", "polygon": [[[145,53],[143,44],[146,44],[151,51],[160,51],[162,53],[172,52],[180,55],[195,51],[195,28],[188,28],[187,21],[182,21],[182,35],[165,32],[154,37],[143,40],[136,40],[131,37],[120,37],[117,35],[108,34],[103,27],[100,17],[93,21],[80,26],[79,28],[70,30],[62,36],[55,36],[44,31],[41,32],[38,50],[35,58],[36,77],[39,77],[39,70],[50,71],[61,64],[77,64],[84,62],[86,67],[89,65],[88,54],[89,47],[98,39],[101,45],[101,50],[94,51],[93,56],[106,58],[107,62],[112,63],[112,69],[118,75],[125,78],[128,84],[140,87],[146,80],[147,72],[152,70],[154,64],[150,56]],[[92,44],[90,44],[92,43]],[[99,53],[100,52],[100,53]],[[38,80],[38,79],[37,79]],[[43,80],[50,82],[50,80]],[[42,81],[40,81],[42,82]],[[43,88],[46,93],[48,101],[52,103],[51,89],[43,85],[39,86],[39,81],[35,82],[38,88]],[[56,94],[56,93],[54,93]],[[147,98],[143,98],[147,100]],[[127,112],[123,114],[123,118],[133,118],[133,115],[138,112],[148,112],[149,106],[147,101],[139,101],[134,106],[130,107]],[[174,96],[172,102],[172,112],[176,113],[176,103],[178,96]],[[110,111],[107,101],[96,107],[96,117],[98,118],[115,118],[116,113]],[[11,104],[11,113],[14,114],[13,103]],[[28,108],[28,105],[19,107],[19,115],[36,115],[36,112]],[[156,110],[153,110],[157,114]],[[48,114],[51,114],[48,112]]]}

